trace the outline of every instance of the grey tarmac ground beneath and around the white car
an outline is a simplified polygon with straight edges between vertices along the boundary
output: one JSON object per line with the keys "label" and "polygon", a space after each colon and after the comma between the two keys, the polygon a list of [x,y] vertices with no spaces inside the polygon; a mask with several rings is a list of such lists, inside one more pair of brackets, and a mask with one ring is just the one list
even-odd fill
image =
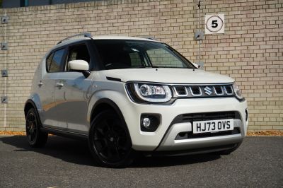
{"label": "grey tarmac ground beneath and around the white car", "polygon": [[231,155],[140,158],[98,168],[86,142],[52,136],[41,149],[0,136],[0,187],[283,187],[283,137],[247,137]]}

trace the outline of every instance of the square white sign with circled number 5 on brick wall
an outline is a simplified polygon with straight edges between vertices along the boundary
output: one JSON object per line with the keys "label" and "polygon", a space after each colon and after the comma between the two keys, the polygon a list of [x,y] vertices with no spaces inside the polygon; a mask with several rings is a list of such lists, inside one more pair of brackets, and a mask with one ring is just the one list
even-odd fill
{"label": "square white sign with circled number 5 on brick wall", "polygon": [[205,34],[224,33],[224,14],[205,15]]}

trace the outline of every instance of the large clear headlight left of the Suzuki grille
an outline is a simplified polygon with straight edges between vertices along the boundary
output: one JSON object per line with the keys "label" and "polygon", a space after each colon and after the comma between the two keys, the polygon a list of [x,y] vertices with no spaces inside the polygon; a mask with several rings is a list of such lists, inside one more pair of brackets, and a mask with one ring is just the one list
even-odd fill
{"label": "large clear headlight left of the Suzuki grille", "polygon": [[132,98],[146,102],[168,102],[172,98],[168,86],[151,83],[128,83],[127,89]]}

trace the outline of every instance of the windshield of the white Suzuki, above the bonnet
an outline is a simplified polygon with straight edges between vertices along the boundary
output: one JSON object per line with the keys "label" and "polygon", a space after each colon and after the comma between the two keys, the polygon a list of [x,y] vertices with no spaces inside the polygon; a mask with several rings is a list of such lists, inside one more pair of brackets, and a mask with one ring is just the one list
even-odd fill
{"label": "windshield of the white Suzuki, above the bonnet", "polygon": [[105,69],[195,69],[190,61],[160,42],[143,40],[93,40]]}

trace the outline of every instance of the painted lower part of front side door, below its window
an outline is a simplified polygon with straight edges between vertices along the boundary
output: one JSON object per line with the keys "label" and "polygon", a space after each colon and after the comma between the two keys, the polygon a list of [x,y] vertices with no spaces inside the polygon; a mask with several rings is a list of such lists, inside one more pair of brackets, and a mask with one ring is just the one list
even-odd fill
{"label": "painted lower part of front side door, below its window", "polygon": [[86,115],[91,96],[91,79],[86,79],[79,72],[62,72],[59,75],[55,83],[54,110],[59,117],[57,124],[64,125],[68,131],[87,132],[89,122]]}

